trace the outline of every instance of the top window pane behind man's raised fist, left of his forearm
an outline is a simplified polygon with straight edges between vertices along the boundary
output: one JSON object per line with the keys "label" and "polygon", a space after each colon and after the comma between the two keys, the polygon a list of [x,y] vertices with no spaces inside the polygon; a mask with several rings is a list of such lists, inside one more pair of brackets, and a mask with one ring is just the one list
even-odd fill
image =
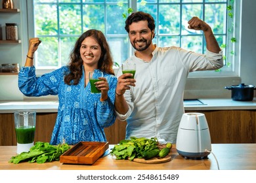
{"label": "top window pane behind man's raised fist, left of his forearm", "polygon": [[198,18],[202,19],[203,12],[202,5],[182,5],[182,35],[201,33],[201,31],[195,31],[193,29],[188,29],[188,21],[193,16],[198,16]]}

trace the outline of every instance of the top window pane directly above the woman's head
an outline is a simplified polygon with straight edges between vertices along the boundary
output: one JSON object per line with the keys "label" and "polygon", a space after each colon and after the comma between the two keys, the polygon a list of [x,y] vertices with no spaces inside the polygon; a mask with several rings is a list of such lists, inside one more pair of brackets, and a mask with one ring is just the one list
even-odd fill
{"label": "top window pane directly above the woman's head", "polygon": [[104,33],[104,5],[83,6],[83,31],[88,29],[98,29]]}

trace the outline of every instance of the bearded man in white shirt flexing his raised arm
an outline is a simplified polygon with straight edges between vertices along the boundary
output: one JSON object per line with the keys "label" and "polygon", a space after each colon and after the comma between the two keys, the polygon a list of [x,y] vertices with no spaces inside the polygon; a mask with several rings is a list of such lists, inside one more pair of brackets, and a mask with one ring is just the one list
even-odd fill
{"label": "bearded man in white shirt flexing his raised arm", "polygon": [[[115,110],[117,118],[127,121],[129,137],[156,137],[161,143],[176,143],[179,123],[184,114],[183,92],[189,72],[223,67],[222,50],[211,27],[197,17],[188,28],[202,30],[206,54],[188,52],[176,46],[160,48],[154,39],[154,18],[134,12],[125,21],[125,29],[135,53],[126,62],[136,63],[132,74],[117,73]],[[136,82],[136,86],[135,86]]]}

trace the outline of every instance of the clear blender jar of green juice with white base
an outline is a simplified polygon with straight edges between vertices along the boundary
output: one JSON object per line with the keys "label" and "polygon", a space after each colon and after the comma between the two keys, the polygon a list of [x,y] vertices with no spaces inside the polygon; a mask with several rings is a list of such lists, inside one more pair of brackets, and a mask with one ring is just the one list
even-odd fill
{"label": "clear blender jar of green juice with white base", "polygon": [[18,110],[14,112],[14,124],[17,141],[17,154],[29,152],[35,138],[36,112]]}

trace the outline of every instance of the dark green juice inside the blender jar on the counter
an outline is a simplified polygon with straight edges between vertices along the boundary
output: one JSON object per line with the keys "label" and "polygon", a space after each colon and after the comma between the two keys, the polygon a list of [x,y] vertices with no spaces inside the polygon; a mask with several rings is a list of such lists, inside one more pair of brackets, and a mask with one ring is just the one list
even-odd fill
{"label": "dark green juice inside the blender jar on the counter", "polygon": [[19,144],[30,144],[35,137],[35,127],[21,126],[15,129],[16,139]]}

